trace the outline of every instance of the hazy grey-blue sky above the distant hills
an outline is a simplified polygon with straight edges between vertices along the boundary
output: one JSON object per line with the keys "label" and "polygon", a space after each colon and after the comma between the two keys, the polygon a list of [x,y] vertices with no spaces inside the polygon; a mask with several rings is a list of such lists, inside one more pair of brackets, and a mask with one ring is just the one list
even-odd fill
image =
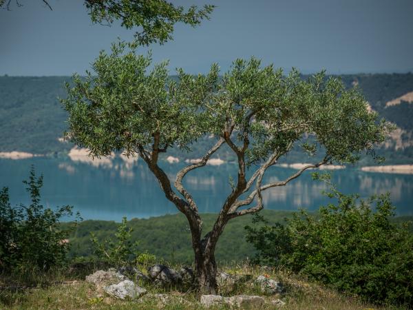
{"label": "hazy grey-blue sky above the distant hills", "polygon": [[[12,0],[14,1],[14,0]],[[264,64],[328,73],[413,71],[413,0],[181,0],[218,6],[198,28],[176,26],[174,41],[151,45],[153,59],[182,67],[222,70],[255,55]],[[102,49],[132,32],[93,25],[82,0],[19,0],[0,10],[0,74],[83,74]],[[147,49],[142,48],[142,52]]]}

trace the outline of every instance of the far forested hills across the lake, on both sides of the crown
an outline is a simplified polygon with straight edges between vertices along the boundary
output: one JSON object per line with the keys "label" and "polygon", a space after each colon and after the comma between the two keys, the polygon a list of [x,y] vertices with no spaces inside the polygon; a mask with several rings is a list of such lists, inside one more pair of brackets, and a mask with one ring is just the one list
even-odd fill
{"label": "far forested hills across the lake, on both sides of the crown", "polygon": [[[341,79],[347,87],[361,88],[372,109],[399,127],[379,154],[388,163],[413,163],[413,74],[348,74]],[[70,77],[0,76],[0,152],[56,154],[72,147],[58,141],[67,116],[58,100],[65,96],[65,81]]]}

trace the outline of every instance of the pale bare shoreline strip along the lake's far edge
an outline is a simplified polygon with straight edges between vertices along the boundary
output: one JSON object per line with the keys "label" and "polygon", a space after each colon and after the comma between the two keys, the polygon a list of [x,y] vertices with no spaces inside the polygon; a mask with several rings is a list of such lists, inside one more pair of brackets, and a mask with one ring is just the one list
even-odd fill
{"label": "pale bare shoreline strip along the lake's far edge", "polygon": [[[102,157],[102,158],[92,158],[92,156],[89,156],[89,152],[87,149],[81,149],[74,147],[73,149],[70,150],[70,152],[67,154],[69,156],[71,161],[80,161],[83,163],[89,163],[92,164],[96,167],[100,165],[105,165],[107,167],[112,167],[112,159],[114,158],[114,154],[111,156],[107,157]],[[19,151],[12,151],[12,152],[0,152],[0,159],[12,159],[12,160],[19,160],[19,159],[28,159],[28,158],[33,158],[33,157],[47,157],[45,154],[32,154],[29,152],[19,152]],[[138,161],[138,157],[127,157],[120,155],[120,158],[122,158],[125,163],[133,164],[134,162]],[[173,165],[174,163],[180,163],[180,158],[176,158],[173,156],[169,156],[168,158],[165,159],[168,163]],[[186,159],[184,160],[184,163],[194,163],[196,161],[199,161],[199,159]],[[220,158],[212,158],[210,165],[222,165],[225,163],[228,163],[226,161],[223,161]],[[283,168],[291,168],[291,169],[302,169],[306,165],[311,165],[310,163],[282,163],[279,164],[278,167],[283,167]],[[312,168],[314,169],[314,168]],[[346,169],[345,165],[321,165],[319,168],[321,170],[339,170],[339,169]],[[357,167],[357,169],[363,171],[363,172],[378,172],[378,173],[385,173],[385,174],[413,174],[413,165],[383,165],[383,166],[363,166],[363,167]]]}

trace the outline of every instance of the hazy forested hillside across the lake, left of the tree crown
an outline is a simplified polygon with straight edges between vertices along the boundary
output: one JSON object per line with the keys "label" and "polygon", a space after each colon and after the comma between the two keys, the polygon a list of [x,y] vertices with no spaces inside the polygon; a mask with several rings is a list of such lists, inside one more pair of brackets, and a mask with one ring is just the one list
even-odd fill
{"label": "hazy forested hillside across the lake, left of the tree crown", "polygon": [[58,99],[65,81],[70,78],[0,76],[0,152],[50,154],[70,147],[57,140],[67,118]]}

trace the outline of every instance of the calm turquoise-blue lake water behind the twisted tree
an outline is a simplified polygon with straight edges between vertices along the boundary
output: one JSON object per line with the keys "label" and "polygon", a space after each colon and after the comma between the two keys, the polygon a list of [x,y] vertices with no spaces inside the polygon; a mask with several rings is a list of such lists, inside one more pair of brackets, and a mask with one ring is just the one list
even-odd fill
{"label": "calm turquoise-blue lake water behind the twisted tree", "polygon": [[[148,218],[176,213],[160,190],[145,163],[126,163],[115,158],[110,165],[95,167],[59,158],[30,158],[23,160],[0,159],[0,187],[7,186],[12,205],[28,203],[28,193],[22,180],[28,178],[30,165],[44,176],[41,191],[43,205],[73,205],[84,219],[116,220],[123,216]],[[163,163],[165,172],[174,178],[181,163]],[[271,167],[266,172],[267,180],[283,180],[297,170]],[[229,178],[236,176],[236,166],[224,164],[207,166],[189,172],[184,185],[193,193],[200,212],[216,213],[226,195],[231,191]],[[362,197],[390,192],[399,215],[413,215],[413,175],[380,174],[361,172],[346,168],[332,172],[332,181],[346,194],[359,193]],[[264,183],[263,183],[264,184]],[[321,194],[328,187],[311,178],[307,171],[284,187],[275,187],[263,192],[266,209],[297,210],[318,209],[331,201]]]}

